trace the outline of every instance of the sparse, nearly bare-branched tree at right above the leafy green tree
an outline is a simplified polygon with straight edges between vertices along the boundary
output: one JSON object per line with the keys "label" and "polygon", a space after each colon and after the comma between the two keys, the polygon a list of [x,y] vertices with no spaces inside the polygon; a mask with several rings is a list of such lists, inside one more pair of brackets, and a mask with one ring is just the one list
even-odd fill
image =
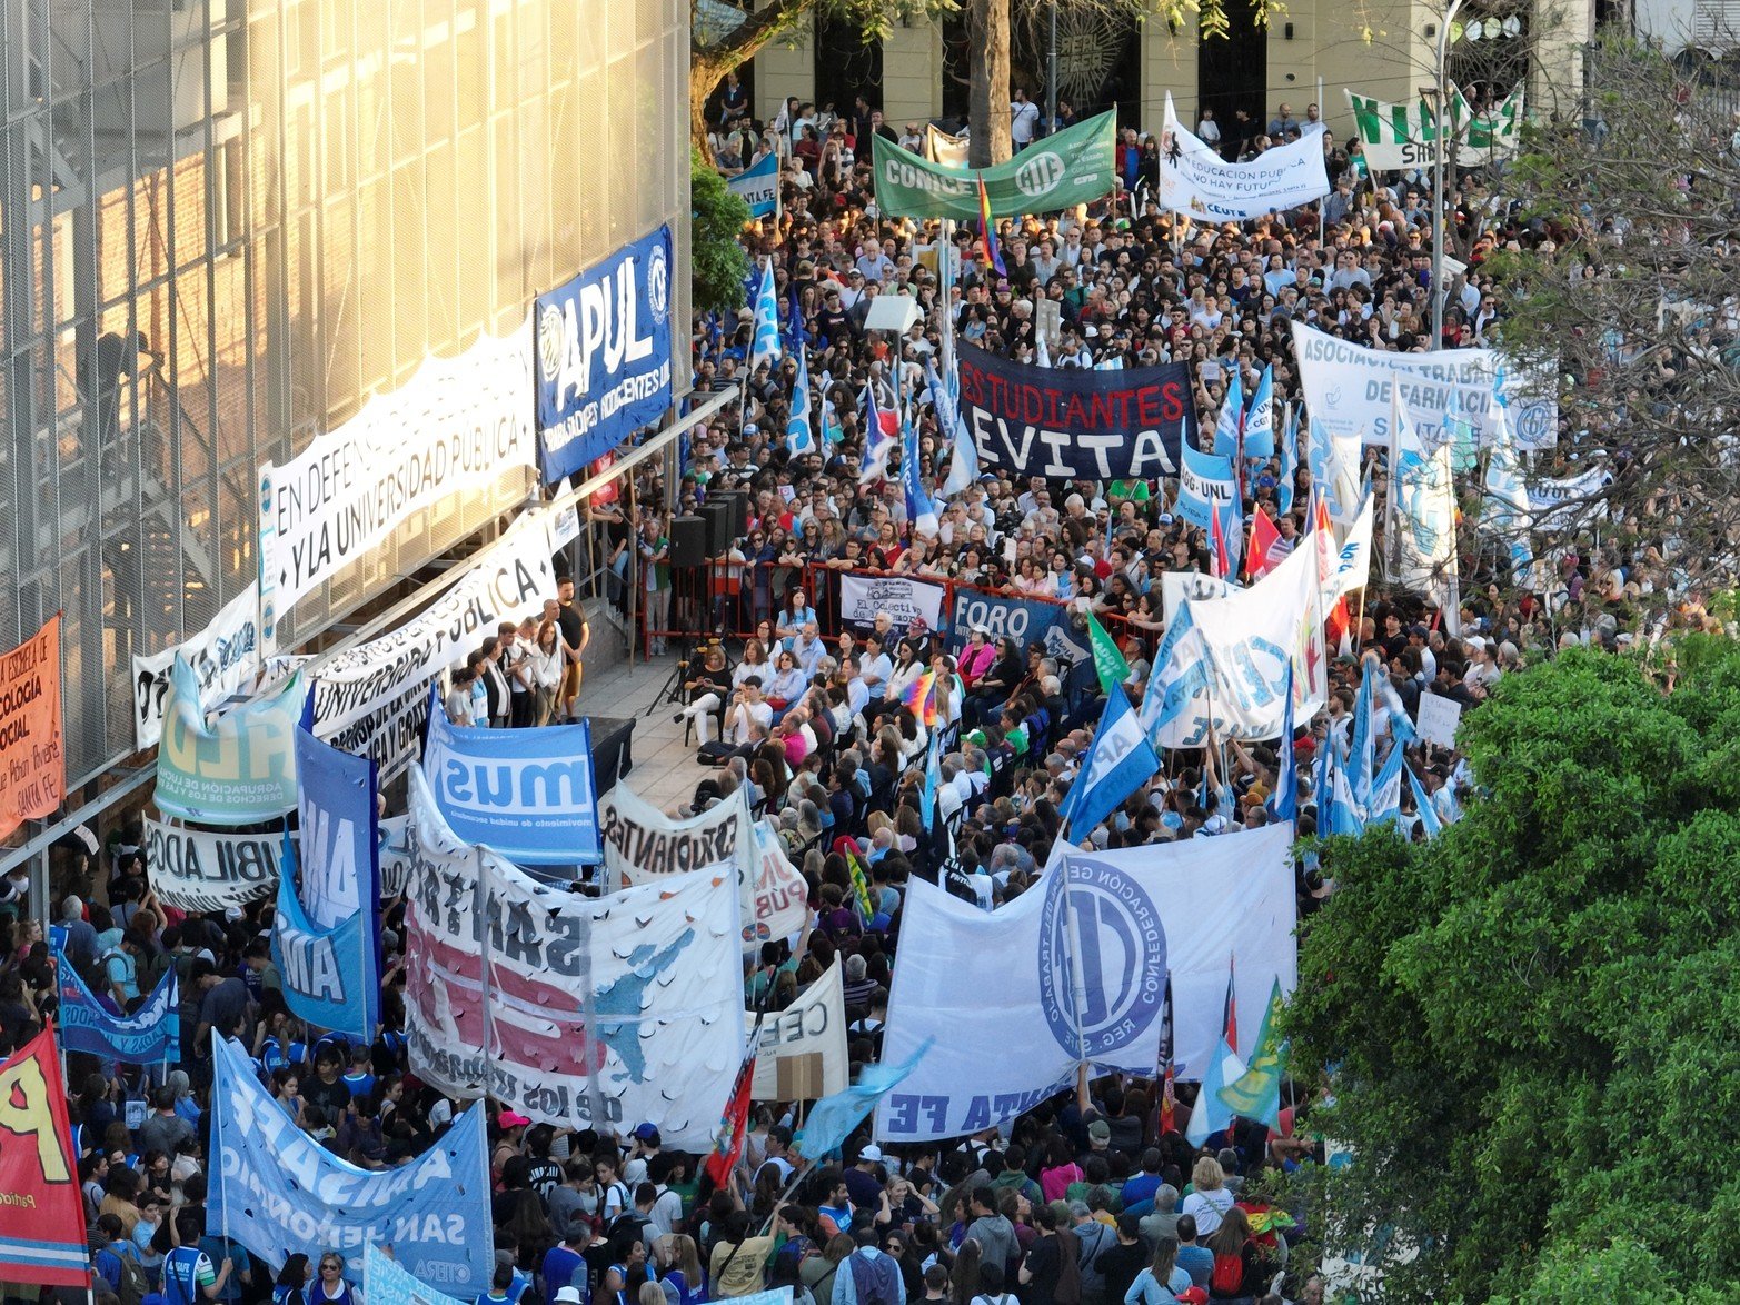
{"label": "sparse, nearly bare-branched tree at right above the leafy green tree", "polygon": [[1488,263],[1507,287],[1503,348],[1563,378],[1561,452],[1583,466],[1604,459],[1615,475],[1580,505],[1583,524],[1611,513],[1620,550],[1658,546],[1690,586],[1731,585],[1735,101],[1623,35],[1603,35],[1585,57],[1583,113],[1533,127],[1502,183],[1524,226],[1517,247]]}

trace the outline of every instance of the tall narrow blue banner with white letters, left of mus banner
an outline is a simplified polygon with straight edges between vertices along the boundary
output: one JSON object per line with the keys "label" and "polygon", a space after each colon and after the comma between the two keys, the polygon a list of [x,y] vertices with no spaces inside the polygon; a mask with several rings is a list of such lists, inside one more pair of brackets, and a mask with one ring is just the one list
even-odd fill
{"label": "tall narrow blue banner with white letters, left of mus banner", "polygon": [[298,1018],[372,1042],[381,1006],[374,762],[299,726],[296,776],[301,858],[285,835],[271,960]]}

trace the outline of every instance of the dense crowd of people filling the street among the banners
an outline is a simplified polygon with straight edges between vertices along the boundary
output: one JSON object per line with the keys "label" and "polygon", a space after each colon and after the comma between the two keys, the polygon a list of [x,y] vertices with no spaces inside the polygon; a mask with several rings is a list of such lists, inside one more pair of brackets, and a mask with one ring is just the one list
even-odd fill
{"label": "dense crowd of people filling the street among the banners", "polygon": [[[1054,600],[1074,621],[1093,612],[1121,640],[1140,701],[1164,633],[1161,576],[1206,571],[1209,545],[1174,510],[1178,487],[1164,480],[1051,484],[988,473],[941,503],[934,534],[920,532],[896,475],[860,477],[860,393],[870,386],[894,405],[896,381],[900,393],[924,390],[924,364],[940,350],[938,304],[960,339],[1034,360],[1035,304],[1049,299],[1063,324],[1058,341],[1047,341],[1060,367],[1188,362],[1206,444],[1234,376],[1249,392],[1272,367],[1277,395],[1296,402],[1289,322],[1402,351],[1489,341],[1503,298],[1482,271],[1484,256],[1510,244],[1538,249],[1554,231],[1510,214],[1469,177],[1449,212],[1460,245],[1472,251],[1469,271],[1449,287],[1444,332],[1432,339],[1432,195],[1420,177],[1368,179],[1357,151],[1340,151],[1322,130],[1335,183],[1322,205],[1195,226],[1152,204],[1133,205],[1154,137],[1126,132],[1121,171],[1131,190],[1084,211],[1004,223],[1004,273],[987,268],[976,235],[960,231],[950,261],[960,277],[945,285],[938,228],[873,207],[867,136],[898,139],[880,113],[867,104],[816,113],[793,103],[759,129],[745,97],[727,89],[726,106],[736,113],[724,117],[722,160],[748,165],[760,150],[786,160],[781,218],[759,223],[746,242],[774,277],[786,338],[809,341],[825,438],[813,452],[786,449],[795,358],[746,369],[750,311],[703,317],[694,381],[743,386],[745,404],[686,440],[672,499],[687,512],[720,491],[745,491],[752,505],[745,532],[715,560],[726,579],[699,590],[712,607],[673,612],[682,586],[656,465],[635,472],[639,492],[628,501],[639,506],[600,501],[590,517],[618,597],[644,595],[625,606],[642,614],[651,651],[684,621],[727,635],[696,651],[682,679],[680,715],[720,767],[699,785],[693,809],[748,786],[809,884],[811,924],[795,943],[767,943],[746,964],[745,999],[783,1009],[840,959],[851,1056],[863,1065],[880,1049],[903,886],[924,875],[985,908],[1027,891],[1063,835],[1060,806],[1103,699],[1091,663],[1067,665],[1044,646],[985,628],[947,640],[922,623],[896,626],[886,612],[867,626],[842,625],[828,576],[931,576]],[[1202,136],[1246,155],[1321,130],[1314,110],[1295,122],[1282,104],[1268,132],[1206,118]],[[893,289],[926,310],[898,339],[865,327],[868,304]],[[912,419],[922,477],[936,492],[948,440],[929,404],[917,404]],[[1302,442],[1305,432],[1308,425]],[[1255,463],[1244,478],[1246,515],[1277,524],[1272,557],[1308,531],[1310,472],[1298,452],[1291,496],[1281,458]],[[1382,492],[1382,477],[1375,480]],[[1566,538],[1543,550],[1531,583],[1509,581],[1495,557],[1472,553],[1460,612],[1436,611],[1416,593],[1368,590],[1328,706],[1300,722],[1298,740],[1171,753],[1107,821],[1068,837],[1134,847],[1260,826],[1272,818],[1267,799],[1284,748],[1300,762],[1298,832],[1308,837],[1317,818],[1308,762],[1331,740],[1345,746],[1366,661],[1378,663],[1392,691],[1380,717],[1413,713],[1427,694],[1477,710],[1500,677],[1561,640],[1616,644],[1634,604],[1672,576],[1648,543],[1615,552]],[[447,713],[496,727],[572,719],[586,640],[574,585],[564,579],[541,621],[503,626],[454,670]],[[938,686],[929,710],[910,694],[926,672]],[[1387,722],[1376,729],[1395,733]],[[947,743],[936,795],[947,842],[926,833],[920,813],[933,733]],[[1465,778],[1458,757],[1422,748],[1418,771],[1448,814]],[[278,1103],[332,1154],[381,1169],[426,1150],[458,1103],[409,1072],[404,903],[383,915],[381,1035],[348,1044],[306,1028],[285,1006],[266,941],[270,903],[205,915],[165,907],[139,844],[129,826],[82,858],[80,894],[54,905],[66,964],[113,1009],[134,1007],[169,969],[183,994],[181,1060],[167,1075],[68,1058],[96,1298],[360,1302],[334,1248],[301,1248],[273,1270],[207,1230],[211,1039],[238,1037]],[[38,922],[49,903],[31,901],[21,880],[7,884],[0,1034],[10,1049],[52,1018],[57,985]],[[1308,927],[1333,891],[1329,867],[1302,856],[1296,887]],[[719,1088],[724,1100],[729,1082]],[[1272,1204],[1268,1181],[1321,1159],[1310,1093],[1302,1086],[1289,1094],[1281,1128],[1241,1119],[1202,1147],[1183,1138],[1192,1089],[1180,1094],[1173,1107],[1157,1082],[1084,1075],[1007,1133],[884,1152],[861,1129],[837,1162],[820,1168],[800,1166],[793,1152],[793,1103],[766,1103],[731,1181],[717,1190],[701,1180],[699,1157],[661,1147],[651,1124],[567,1133],[492,1108],[499,1265],[480,1300],[691,1305],[764,1288],[792,1288],[797,1305],[1322,1300],[1321,1277],[1289,1270],[1310,1211]]]}

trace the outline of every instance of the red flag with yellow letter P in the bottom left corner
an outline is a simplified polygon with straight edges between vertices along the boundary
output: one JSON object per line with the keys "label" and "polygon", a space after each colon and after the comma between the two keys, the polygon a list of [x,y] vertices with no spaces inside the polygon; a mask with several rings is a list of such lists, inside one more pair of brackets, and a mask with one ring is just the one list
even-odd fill
{"label": "red flag with yellow letter P in the bottom left corner", "polygon": [[85,1199],[47,1027],[0,1065],[0,1279],[89,1288]]}

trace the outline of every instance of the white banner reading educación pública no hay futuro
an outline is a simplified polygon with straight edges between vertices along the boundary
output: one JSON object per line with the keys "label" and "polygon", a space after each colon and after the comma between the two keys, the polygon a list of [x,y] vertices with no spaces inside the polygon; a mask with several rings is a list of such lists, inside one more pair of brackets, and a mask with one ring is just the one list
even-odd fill
{"label": "white banner reading educaci\u00f3n p\u00fablica no hay futuro", "polygon": [[1168,90],[1155,191],[1162,209],[1208,223],[1242,223],[1322,198],[1329,174],[1315,132],[1263,150],[1249,164],[1228,164],[1178,122]]}

